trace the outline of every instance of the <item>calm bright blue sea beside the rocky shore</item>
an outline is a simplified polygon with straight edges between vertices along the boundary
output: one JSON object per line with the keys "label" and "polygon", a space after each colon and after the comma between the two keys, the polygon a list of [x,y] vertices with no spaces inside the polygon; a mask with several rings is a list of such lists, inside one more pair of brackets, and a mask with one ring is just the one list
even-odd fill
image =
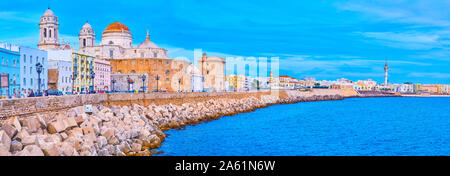
{"label": "calm bright blue sea beside the rocky shore", "polygon": [[162,155],[450,155],[450,98],[274,105],[167,133]]}

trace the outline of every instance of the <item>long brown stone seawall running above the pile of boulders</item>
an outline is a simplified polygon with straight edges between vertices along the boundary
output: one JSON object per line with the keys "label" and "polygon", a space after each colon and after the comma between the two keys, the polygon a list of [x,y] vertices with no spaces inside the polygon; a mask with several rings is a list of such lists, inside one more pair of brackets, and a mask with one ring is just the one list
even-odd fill
{"label": "long brown stone seawall running above the pile of boulders", "polygon": [[151,104],[181,105],[183,103],[208,101],[216,98],[240,99],[251,96],[259,98],[261,95],[269,94],[271,94],[269,91],[148,94],[117,93],[4,99],[0,100],[0,119],[5,119],[12,116],[28,115],[32,113],[68,109],[85,104],[103,104],[106,106],[131,106],[133,104],[139,104],[142,106],[148,106]]}

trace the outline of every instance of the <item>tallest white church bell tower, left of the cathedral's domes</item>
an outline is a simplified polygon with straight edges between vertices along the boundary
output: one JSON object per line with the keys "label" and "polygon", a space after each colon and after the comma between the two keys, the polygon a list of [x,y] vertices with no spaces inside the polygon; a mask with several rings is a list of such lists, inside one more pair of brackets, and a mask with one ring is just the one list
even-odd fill
{"label": "tallest white church bell tower, left of the cathedral's domes", "polygon": [[50,50],[59,48],[58,17],[48,8],[39,21],[39,49]]}

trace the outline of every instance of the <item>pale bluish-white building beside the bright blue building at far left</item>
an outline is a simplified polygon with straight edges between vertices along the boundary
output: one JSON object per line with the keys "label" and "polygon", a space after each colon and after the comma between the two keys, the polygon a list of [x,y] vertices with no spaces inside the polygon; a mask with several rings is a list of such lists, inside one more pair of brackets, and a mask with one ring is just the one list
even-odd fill
{"label": "pale bluish-white building beside the bright blue building at far left", "polygon": [[[43,66],[40,75],[36,70],[36,64],[38,63]],[[27,92],[29,92],[30,90],[33,90],[34,92],[38,91],[40,78],[40,90],[47,90],[47,75],[47,51],[28,47],[20,47],[20,89]]]}

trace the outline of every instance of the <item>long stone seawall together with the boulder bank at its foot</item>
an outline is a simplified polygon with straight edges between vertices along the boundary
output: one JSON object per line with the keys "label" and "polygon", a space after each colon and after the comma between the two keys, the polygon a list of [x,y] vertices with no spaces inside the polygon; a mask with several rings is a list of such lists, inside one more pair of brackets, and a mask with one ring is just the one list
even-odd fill
{"label": "long stone seawall together with the boulder bank at its foot", "polygon": [[[99,94],[0,101],[0,155],[148,156],[163,131],[273,104],[342,100],[338,90]],[[84,104],[92,104],[92,113]]]}

